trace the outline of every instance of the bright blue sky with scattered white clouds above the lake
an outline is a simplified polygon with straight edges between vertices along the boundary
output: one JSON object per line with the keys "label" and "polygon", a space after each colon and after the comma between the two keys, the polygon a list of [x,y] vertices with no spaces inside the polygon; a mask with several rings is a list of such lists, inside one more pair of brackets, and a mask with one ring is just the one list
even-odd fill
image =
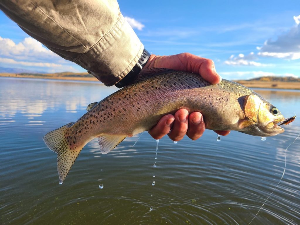
{"label": "bright blue sky with scattered white clouds above the lake", "polygon": [[[300,76],[300,1],[118,2],[153,54],[210,58],[225,79]],[[23,55],[14,54],[14,46],[22,46]],[[0,66],[85,71],[29,38],[1,11]]]}

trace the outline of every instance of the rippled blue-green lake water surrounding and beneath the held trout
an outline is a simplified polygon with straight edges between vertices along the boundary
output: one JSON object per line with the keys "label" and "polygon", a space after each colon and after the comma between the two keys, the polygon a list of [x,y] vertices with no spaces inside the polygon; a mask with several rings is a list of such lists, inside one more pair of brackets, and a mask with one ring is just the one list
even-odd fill
{"label": "rippled blue-green lake water surrounding and beneath the held trout", "polygon": [[[56,154],[42,137],[116,90],[0,78],[0,224],[248,224],[279,182],[285,149],[300,132],[296,119],[265,141],[236,131],[220,142],[209,130],[177,144],[164,137],[157,159],[147,132],[107,155],[93,140],[59,185]],[[257,92],[286,117],[300,115],[300,91]],[[300,138],[286,151],[282,182],[251,224],[300,224],[299,150]]]}

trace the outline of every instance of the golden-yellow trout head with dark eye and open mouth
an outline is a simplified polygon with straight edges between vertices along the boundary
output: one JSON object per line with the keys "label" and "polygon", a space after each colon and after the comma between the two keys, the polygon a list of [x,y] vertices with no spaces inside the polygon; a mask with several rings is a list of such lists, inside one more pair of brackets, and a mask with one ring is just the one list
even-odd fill
{"label": "golden-yellow trout head with dark eye and open mouth", "polygon": [[281,112],[256,93],[247,96],[244,113],[250,125],[242,129],[243,133],[268,137],[284,132],[284,129],[277,125],[285,120]]}

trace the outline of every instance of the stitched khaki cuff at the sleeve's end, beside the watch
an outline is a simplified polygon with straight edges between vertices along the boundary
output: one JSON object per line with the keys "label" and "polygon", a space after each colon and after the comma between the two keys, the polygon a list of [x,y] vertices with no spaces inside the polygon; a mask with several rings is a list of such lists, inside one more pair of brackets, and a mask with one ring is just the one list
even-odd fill
{"label": "stitched khaki cuff at the sleeve's end, beside the watch", "polygon": [[118,83],[138,62],[144,46],[120,14],[116,24],[76,63],[106,86]]}

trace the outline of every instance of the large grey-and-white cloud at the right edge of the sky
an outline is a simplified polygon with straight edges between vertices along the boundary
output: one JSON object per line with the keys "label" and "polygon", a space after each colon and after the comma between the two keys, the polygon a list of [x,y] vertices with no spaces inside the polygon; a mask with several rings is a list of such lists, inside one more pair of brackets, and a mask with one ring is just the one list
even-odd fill
{"label": "large grey-and-white cloud at the right edge of the sky", "polygon": [[300,58],[300,15],[294,16],[296,25],[289,29],[289,32],[279,35],[276,41],[268,39],[258,55],[274,58],[299,59]]}

